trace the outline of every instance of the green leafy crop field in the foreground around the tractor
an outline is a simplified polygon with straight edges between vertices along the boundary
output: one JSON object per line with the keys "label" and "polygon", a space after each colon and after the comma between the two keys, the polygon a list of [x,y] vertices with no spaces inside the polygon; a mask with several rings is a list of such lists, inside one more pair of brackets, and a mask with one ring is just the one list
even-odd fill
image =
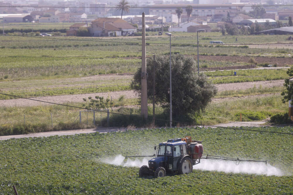
{"label": "green leafy crop field in the foreground around the tractor", "polygon": [[[246,129],[246,128],[245,128]],[[293,133],[292,128],[249,128]],[[139,167],[113,164],[118,155],[152,155],[154,145],[190,135],[203,141],[204,154],[268,160],[243,162],[245,172],[266,167],[267,174],[193,170],[157,179],[138,177]],[[147,129],[107,134],[80,134],[0,141],[0,194],[292,194],[292,135],[226,128]],[[142,160],[142,159],[140,159]],[[134,159],[130,160],[134,162]],[[137,161],[136,161],[137,162]],[[206,162],[202,160],[203,163]],[[217,163],[217,161],[215,162]],[[227,165],[221,162],[223,166]],[[122,165],[125,163],[122,163]],[[126,163],[127,164],[127,163]],[[129,164],[129,163],[128,163]],[[136,163],[137,164],[137,163]],[[142,163],[140,163],[142,164]],[[270,172],[271,166],[280,171]],[[216,168],[217,169],[217,168]],[[233,171],[233,169],[231,170]],[[274,176],[281,174],[282,176]]]}

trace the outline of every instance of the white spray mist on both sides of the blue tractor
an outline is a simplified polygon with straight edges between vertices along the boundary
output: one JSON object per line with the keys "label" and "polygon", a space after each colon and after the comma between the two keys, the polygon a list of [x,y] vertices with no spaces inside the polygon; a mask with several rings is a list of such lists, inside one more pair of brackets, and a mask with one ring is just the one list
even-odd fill
{"label": "white spray mist on both sides of the blue tractor", "polygon": [[[113,158],[102,158],[99,161],[111,165],[119,165],[123,167],[141,167],[142,165],[148,165],[148,161],[151,157],[145,157],[142,160],[137,158],[130,159],[122,155],[117,155]],[[226,173],[246,173],[246,174],[258,174],[258,175],[285,175],[280,169],[273,167],[270,164],[263,162],[240,162],[236,165],[233,161],[219,161],[210,159],[201,159],[200,164],[194,165],[193,169],[204,170],[204,171],[221,171]]]}

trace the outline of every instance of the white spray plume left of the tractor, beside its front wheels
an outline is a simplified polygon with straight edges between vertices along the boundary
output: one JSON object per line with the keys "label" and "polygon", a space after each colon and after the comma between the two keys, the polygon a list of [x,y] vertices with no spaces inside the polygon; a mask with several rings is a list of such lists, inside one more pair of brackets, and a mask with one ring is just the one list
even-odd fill
{"label": "white spray plume left of the tractor, beside its front wheels", "polygon": [[141,167],[142,165],[148,165],[150,158],[143,158],[142,160],[139,160],[137,158],[130,159],[128,158],[126,162],[124,161],[125,157],[122,155],[117,155],[113,158],[103,158],[100,159],[101,162],[111,164],[111,165],[120,165],[123,167]]}

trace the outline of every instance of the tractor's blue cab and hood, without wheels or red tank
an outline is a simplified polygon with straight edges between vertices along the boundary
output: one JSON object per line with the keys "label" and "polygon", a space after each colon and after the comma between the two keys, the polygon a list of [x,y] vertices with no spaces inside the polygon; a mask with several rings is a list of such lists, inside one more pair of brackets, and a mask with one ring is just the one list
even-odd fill
{"label": "tractor's blue cab and hood, without wheels or red tank", "polygon": [[158,167],[164,167],[169,171],[178,171],[178,161],[187,155],[186,142],[181,138],[169,139],[159,144],[157,157],[149,160],[149,168],[155,171]]}

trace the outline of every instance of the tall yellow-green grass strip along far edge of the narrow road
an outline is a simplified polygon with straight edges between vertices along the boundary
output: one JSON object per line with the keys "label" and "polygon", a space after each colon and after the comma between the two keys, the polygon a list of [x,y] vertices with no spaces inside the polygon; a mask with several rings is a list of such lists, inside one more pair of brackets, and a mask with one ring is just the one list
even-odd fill
{"label": "tall yellow-green grass strip along far edge of the narrow road", "polygon": [[[120,100],[125,101],[125,100]],[[128,101],[126,104],[137,103],[137,100]],[[150,103],[150,102],[149,102]],[[119,99],[114,100],[114,105],[119,104]],[[121,102],[120,102],[121,104]],[[124,103],[125,104],[125,103]],[[71,104],[81,106],[80,104]],[[80,109],[49,105],[49,106],[32,106],[32,107],[0,107],[0,112],[2,114],[0,121],[0,135],[4,135],[5,132],[13,132],[13,128],[17,127],[24,128],[24,115],[25,124],[31,129],[38,131],[50,131],[50,130],[64,130],[68,127],[77,128],[79,126],[79,111]],[[239,114],[243,114],[243,121],[260,120],[272,116],[273,114],[287,111],[287,104],[282,103],[282,97],[280,95],[272,95],[260,98],[247,98],[238,100],[228,100],[217,103],[209,104],[205,111],[200,113],[200,115],[193,116],[194,121],[186,121],[186,118],[177,118],[175,121],[184,122],[195,122],[203,125],[211,125],[217,123],[226,123],[229,121],[239,121]],[[140,111],[136,107],[134,108],[113,108],[111,111],[113,113],[120,113],[124,115],[111,114],[110,124],[112,126],[129,126],[129,125],[139,125],[144,124],[151,125],[152,123],[152,107],[149,106],[149,120],[143,121],[140,118],[133,117],[140,116]],[[50,113],[52,113],[53,118],[53,128]],[[162,119],[168,121],[168,113],[165,113],[160,106],[156,106],[155,114],[157,119]],[[96,125],[102,126],[106,125],[106,113],[96,113]],[[102,117],[102,121],[101,121]],[[157,126],[165,126],[166,121],[157,120]],[[184,124],[184,122],[182,124]],[[83,128],[93,128],[93,114],[82,112],[82,123],[80,124]],[[168,124],[167,124],[168,125]],[[25,129],[27,129],[26,127]],[[2,134],[1,134],[2,133]]]}

